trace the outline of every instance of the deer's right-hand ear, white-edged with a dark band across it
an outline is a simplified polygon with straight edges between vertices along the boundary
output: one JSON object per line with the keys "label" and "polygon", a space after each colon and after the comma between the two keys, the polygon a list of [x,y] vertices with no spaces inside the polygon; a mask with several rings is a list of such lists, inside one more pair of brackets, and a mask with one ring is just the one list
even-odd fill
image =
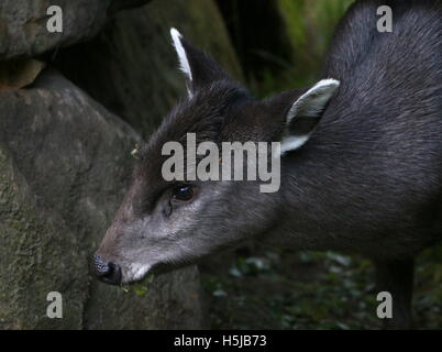
{"label": "deer's right-hand ear, white-edged with a dark band across it", "polygon": [[339,85],[335,79],[322,79],[291,105],[280,142],[281,154],[300,147],[309,140]]}

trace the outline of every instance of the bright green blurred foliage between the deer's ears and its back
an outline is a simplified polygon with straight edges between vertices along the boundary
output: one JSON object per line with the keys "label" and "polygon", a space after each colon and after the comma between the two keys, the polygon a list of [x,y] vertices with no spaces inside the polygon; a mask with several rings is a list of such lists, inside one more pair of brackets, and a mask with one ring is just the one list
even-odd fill
{"label": "bright green blurred foliage between the deer's ears and its back", "polygon": [[334,28],[353,0],[278,0],[280,15],[290,38],[290,62],[261,53],[268,62],[277,63],[281,70],[259,73],[251,78],[256,95],[264,97],[275,91],[307,87],[320,74],[324,53]]}

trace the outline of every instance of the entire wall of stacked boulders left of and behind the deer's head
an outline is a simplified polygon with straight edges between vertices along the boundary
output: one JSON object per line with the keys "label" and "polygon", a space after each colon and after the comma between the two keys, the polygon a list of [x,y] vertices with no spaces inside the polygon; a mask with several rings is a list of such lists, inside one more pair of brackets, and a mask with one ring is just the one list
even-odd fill
{"label": "entire wall of stacked boulders left of and behind the deer's head", "polygon": [[[196,267],[157,277],[144,297],[88,270],[129,186],[131,150],[186,95],[169,28],[242,79],[214,1],[154,0],[110,19],[146,2],[0,1],[0,329],[206,327]],[[63,34],[46,31],[51,4]],[[24,69],[35,55],[74,84],[45,69],[16,89],[38,75]],[[51,292],[63,319],[46,316]]]}

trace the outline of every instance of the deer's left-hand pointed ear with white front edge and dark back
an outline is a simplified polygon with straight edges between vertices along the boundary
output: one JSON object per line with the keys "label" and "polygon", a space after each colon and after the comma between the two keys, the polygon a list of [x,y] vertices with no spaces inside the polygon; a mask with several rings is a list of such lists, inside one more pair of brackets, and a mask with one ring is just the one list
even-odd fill
{"label": "deer's left-hand pointed ear with white front edge and dark back", "polygon": [[229,78],[210,56],[190,45],[176,29],[170,29],[170,35],[178,55],[179,69],[186,77],[189,98],[201,87]]}

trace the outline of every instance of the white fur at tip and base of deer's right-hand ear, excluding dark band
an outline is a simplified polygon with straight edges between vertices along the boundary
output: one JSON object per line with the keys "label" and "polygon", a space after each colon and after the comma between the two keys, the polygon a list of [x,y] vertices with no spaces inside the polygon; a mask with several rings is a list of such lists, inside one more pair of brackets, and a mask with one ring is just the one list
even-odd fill
{"label": "white fur at tip and base of deer's right-hand ear, excluding dark band", "polygon": [[296,117],[319,119],[339,86],[340,81],[336,79],[322,79],[294,102],[286,117],[286,132],[280,142],[281,154],[300,147],[310,138],[311,131],[306,134],[291,135],[289,132],[291,121]]}

